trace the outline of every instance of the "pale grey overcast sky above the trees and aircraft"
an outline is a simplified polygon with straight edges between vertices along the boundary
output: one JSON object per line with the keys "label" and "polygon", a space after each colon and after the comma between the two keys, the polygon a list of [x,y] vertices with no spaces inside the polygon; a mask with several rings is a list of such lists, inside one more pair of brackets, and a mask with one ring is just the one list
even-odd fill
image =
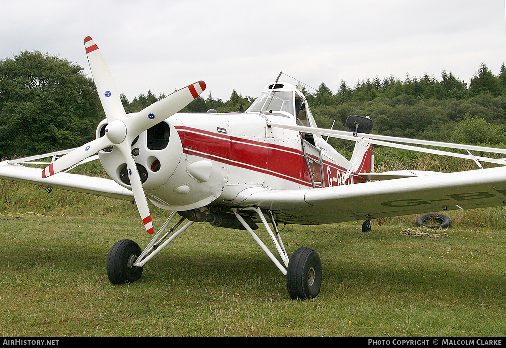
{"label": "pale grey overcast sky above the trees and aircraft", "polygon": [[439,80],[443,69],[469,83],[482,62],[497,74],[506,61],[505,2],[3,0],[0,59],[36,50],[89,74],[91,35],[129,100],[198,80],[204,98],[257,97],[280,71],[333,92],[390,74]]}

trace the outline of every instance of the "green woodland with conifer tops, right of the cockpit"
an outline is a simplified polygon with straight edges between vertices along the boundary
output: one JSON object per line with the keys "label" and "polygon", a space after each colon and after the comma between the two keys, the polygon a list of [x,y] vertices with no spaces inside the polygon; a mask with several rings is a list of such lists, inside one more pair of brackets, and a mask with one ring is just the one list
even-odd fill
{"label": "green woodland with conifer tops, right of the cockpit", "polygon": [[439,79],[390,76],[380,81],[357,82],[350,88],[344,81],[336,93],[324,83],[308,95],[320,127],[344,129],[349,114],[368,115],[373,132],[395,137],[420,138],[468,144],[506,143],[506,68],[496,75],[481,63],[469,85],[451,72]]}

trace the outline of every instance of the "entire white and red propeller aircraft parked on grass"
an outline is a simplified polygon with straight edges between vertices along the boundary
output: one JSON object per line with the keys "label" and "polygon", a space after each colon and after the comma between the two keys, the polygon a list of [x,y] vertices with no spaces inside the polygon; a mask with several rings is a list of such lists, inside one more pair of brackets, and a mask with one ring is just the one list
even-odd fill
{"label": "entire white and red propeller aircraft parked on grass", "polygon": [[[289,257],[279,223],[359,220],[368,232],[372,219],[385,216],[506,204],[506,168],[481,165],[505,165],[506,160],[471,153],[504,154],[506,149],[373,135],[372,120],[356,115],[347,121],[349,132],[318,128],[304,94],[278,81],[281,73],[245,112],[178,113],[204,91],[200,81],[126,114],[109,68],[89,36],[85,47],[106,114],[96,139],[74,149],[1,162],[0,178],[135,201],[147,233],[154,236],[144,250],[131,240],[112,247],[107,275],[113,284],[138,280],[148,260],[179,234],[194,222],[208,222],[246,230],[286,276],[289,296],[308,298],[320,292],[319,255],[303,247]],[[355,142],[351,159],[332,148],[325,136]],[[474,160],[479,169],[374,173],[373,144]],[[51,164],[45,169],[28,166],[48,157]],[[96,158],[111,179],[68,172]],[[172,211],[157,233],[148,200]],[[177,213],[180,218],[170,227]],[[279,259],[255,233],[258,224],[267,230]]]}

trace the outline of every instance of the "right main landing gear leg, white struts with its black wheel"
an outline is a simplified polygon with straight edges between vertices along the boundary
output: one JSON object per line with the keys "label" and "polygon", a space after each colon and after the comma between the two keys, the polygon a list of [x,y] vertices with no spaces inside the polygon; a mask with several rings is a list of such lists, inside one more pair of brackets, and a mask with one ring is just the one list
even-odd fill
{"label": "right main landing gear leg, white struts with its black wheel", "polygon": [[[278,250],[279,256],[281,257],[284,266],[278,261],[278,259],[272,254],[262,240],[255,234],[255,232],[246,224],[242,219],[241,215],[238,214],[237,209],[233,209],[235,216],[241,222],[242,226],[249,232],[257,243],[262,247],[265,253],[271,258],[274,264],[279,268],[281,273],[286,276],[286,288],[288,294],[292,299],[305,299],[314,297],[320,293],[321,281],[322,281],[322,269],[320,256],[316,251],[311,248],[299,248],[290,258],[288,258],[281,236],[274,221],[272,211],[269,211],[269,217],[271,219],[272,226],[274,227],[275,234],[272,232],[269,224],[264,216],[264,213],[259,207],[246,208],[248,210],[255,210],[260,216],[262,223],[264,224],[269,236],[271,237],[276,249]],[[242,210],[246,210],[242,209]],[[285,268],[286,267],[286,268]]]}

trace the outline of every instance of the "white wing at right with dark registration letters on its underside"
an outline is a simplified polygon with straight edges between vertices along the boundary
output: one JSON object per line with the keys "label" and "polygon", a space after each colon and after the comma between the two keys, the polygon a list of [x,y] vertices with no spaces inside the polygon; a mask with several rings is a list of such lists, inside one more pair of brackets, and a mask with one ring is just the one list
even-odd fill
{"label": "white wing at right with dark registration letters on its underside", "polygon": [[233,202],[294,224],[329,224],[430,211],[506,205],[506,167],[352,185],[248,192]]}

